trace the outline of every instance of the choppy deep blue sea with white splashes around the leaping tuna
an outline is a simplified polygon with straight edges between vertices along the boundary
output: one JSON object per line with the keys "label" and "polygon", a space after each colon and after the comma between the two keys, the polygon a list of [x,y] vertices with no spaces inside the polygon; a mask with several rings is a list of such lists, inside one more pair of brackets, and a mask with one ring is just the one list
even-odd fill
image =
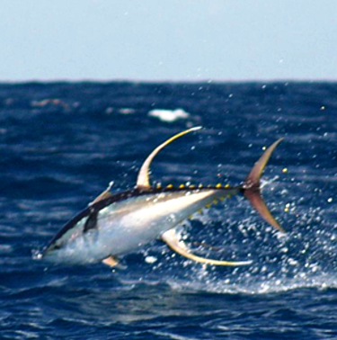
{"label": "choppy deep blue sea with white splashes around the leaping tuna", "polygon": [[[192,263],[155,241],[104,264],[36,259],[113,181],[236,185],[263,148],[281,235],[235,197],[181,227]],[[0,85],[1,339],[337,339],[337,84]],[[214,247],[200,246],[206,242]]]}

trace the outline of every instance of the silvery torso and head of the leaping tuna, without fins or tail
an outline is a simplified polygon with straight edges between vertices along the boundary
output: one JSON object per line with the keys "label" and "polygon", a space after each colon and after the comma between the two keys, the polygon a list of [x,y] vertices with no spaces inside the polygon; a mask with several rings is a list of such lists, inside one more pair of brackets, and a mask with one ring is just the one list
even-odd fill
{"label": "silvery torso and head of the leaping tuna, without fins or tail", "polygon": [[[71,220],[50,242],[44,257],[84,264],[128,254],[160,238],[196,211],[239,192],[239,188],[213,187],[150,192],[136,189],[115,194]],[[93,228],[88,228],[90,223]]]}

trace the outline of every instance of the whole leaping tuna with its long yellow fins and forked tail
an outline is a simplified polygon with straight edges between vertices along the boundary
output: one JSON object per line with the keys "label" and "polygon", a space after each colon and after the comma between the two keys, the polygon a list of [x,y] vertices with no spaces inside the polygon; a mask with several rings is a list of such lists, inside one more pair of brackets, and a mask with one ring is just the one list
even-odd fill
{"label": "whole leaping tuna with its long yellow fins and forked tail", "polygon": [[175,228],[193,213],[212,202],[243,193],[253,207],[274,228],[284,231],[271,216],[262,200],[260,176],[279,139],[255,163],[241,186],[221,184],[209,187],[154,188],[149,183],[149,166],[156,154],[174,139],[199,128],[182,131],[167,139],[146,158],[135,189],[111,193],[102,192],[86,209],[70,219],[45,247],[40,258],[56,263],[88,264],[102,261],[118,264],[118,256],[161,238],[175,252],[204,264],[242,265],[249,262],[228,262],[193,255],[175,233]]}

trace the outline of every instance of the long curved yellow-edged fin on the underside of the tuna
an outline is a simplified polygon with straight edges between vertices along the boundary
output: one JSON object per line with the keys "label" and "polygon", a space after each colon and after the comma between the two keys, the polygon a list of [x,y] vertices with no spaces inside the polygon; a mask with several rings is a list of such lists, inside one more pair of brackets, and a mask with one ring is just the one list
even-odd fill
{"label": "long curved yellow-edged fin on the underside of the tuna", "polygon": [[162,235],[163,241],[169,246],[174,252],[187,257],[193,261],[200,262],[201,264],[213,264],[213,265],[246,265],[252,264],[252,261],[218,261],[210,258],[200,257],[193,255],[190,252],[188,246],[179,240],[177,233],[174,229],[166,231]]}

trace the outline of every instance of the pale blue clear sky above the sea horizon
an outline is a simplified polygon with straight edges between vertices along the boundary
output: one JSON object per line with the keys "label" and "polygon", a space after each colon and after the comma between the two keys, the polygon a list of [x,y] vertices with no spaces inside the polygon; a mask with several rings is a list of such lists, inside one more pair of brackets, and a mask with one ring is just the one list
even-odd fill
{"label": "pale blue clear sky above the sea horizon", "polygon": [[0,82],[337,80],[334,0],[0,0]]}

